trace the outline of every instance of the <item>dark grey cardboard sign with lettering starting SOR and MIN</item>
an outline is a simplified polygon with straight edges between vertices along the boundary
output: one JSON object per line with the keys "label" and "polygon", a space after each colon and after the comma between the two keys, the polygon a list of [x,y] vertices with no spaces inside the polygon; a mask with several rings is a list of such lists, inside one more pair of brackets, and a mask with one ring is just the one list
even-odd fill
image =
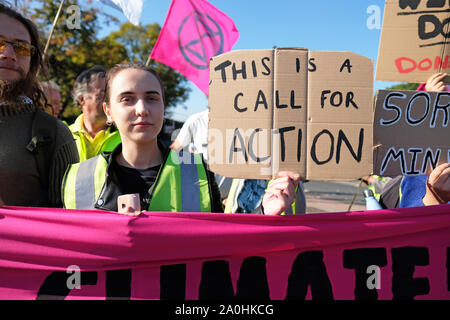
{"label": "dark grey cardboard sign with lettering starting SOR and MIN", "polygon": [[427,175],[450,162],[450,92],[377,92],[374,172]]}

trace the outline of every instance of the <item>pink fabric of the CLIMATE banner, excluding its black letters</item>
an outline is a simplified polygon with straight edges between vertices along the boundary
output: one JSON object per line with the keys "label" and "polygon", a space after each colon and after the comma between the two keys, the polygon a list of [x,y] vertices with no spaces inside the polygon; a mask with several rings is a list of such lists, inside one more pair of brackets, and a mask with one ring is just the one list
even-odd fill
{"label": "pink fabric of the CLIMATE banner, excluding its black letters", "polygon": [[[344,267],[348,249],[385,248],[378,299],[392,299],[392,249],[424,247],[429,263],[416,266],[430,290],[416,299],[450,299],[450,205],[300,216],[112,212],[48,208],[0,208],[0,299],[36,299],[53,271],[71,265],[95,271],[95,285],[67,299],[105,299],[105,271],[131,269],[131,299],[160,298],[160,268],[186,264],[186,299],[199,298],[202,265],[229,263],[236,291],[245,258],[266,259],[271,299],[286,297],[295,258],[319,250],[334,299],[355,298],[355,270]],[[447,262],[448,263],[448,262]],[[307,298],[311,298],[308,293]]]}

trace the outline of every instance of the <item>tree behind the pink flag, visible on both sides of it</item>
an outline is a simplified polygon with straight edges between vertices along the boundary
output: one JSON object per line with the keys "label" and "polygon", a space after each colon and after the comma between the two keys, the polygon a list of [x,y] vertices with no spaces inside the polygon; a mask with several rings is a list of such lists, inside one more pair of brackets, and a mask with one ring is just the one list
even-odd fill
{"label": "tree behind the pink flag, visible on both sides of it", "polygon": [[[124,45],[130,61],[145,63],[160,31],[161,27],[157,23],[135,26],[126,22],[120,26],[119,31],[112,32],[107,39]],[[150,66],[158,71],[164,84],[166,105],[169,109],[166,110],[166,114],[170,114],[170,107],[186,101],[190,91],[186,86],[188,80],[182,74],[157,61],[152,60]]]}

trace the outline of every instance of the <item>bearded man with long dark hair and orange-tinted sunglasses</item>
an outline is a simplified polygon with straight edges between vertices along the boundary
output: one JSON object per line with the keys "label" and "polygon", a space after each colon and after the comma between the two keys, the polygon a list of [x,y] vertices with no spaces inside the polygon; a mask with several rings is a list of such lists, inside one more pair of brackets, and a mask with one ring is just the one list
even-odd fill
{"label": "bearded man with long dark hair and orange-tinted sunglasses", "polygon": [[67,126],[43,111],[42,58],[33,22],[0,4],[0,199],[6,205],[62,206],[62,177],[78,161]]}

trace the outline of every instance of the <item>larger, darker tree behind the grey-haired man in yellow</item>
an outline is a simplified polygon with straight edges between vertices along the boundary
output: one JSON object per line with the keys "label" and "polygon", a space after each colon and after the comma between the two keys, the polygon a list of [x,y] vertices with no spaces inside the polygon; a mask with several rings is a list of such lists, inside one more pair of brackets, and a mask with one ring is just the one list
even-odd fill
{"label": "larger, darker tree behind the grey-haired man in yellow", "polygon": [[[40,0],[31,8],[31,19],[41,32],[45,46],[60,1]],[[46,54],[49,78],[61,88],[63,118],[81,113],[72,99],[71,91],[76,77],[84,70],[99,64],[106,68],[127,61],[126,49],[119,43],[97,38],[100,29],[99,10],[78,1],[65,1]],[[110,18],[108,21],[114,21]],[[78,21],[77,21],[78,20]],[[117,19],[115,19],[117,21]],[[45,79],[43,79],[45,80]]]}

